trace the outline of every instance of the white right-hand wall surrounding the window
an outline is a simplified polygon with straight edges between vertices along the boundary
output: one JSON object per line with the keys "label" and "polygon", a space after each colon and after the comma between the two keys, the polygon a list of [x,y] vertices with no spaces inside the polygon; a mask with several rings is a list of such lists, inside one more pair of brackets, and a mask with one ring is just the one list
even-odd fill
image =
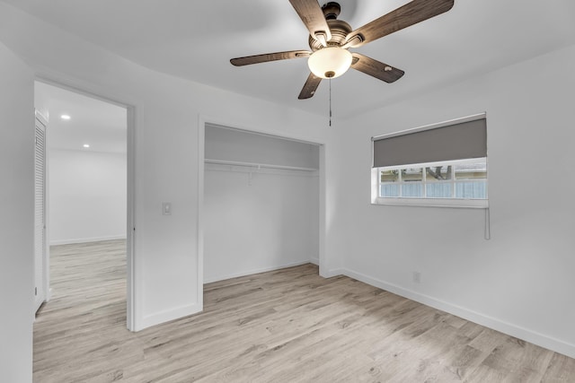
{"label": "white right-hand wall surrounding the window", "polygon": [[[349,155],[327,160],[345,274],[575,356],[574,66],[565,48],[350,120]],[[481,210],[369,204],[372,135],[483,111],[491,240]]]}

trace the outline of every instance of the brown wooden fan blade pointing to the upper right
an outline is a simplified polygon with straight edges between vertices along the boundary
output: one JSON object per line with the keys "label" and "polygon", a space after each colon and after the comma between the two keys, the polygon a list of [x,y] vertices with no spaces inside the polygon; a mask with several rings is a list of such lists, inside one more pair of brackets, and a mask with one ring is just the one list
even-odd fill
{"label": "brown wooden fan blade pointing to the upper right", "polygon": [[428,20],[431,17],[449,11],[453,4],[454,0],[413,0],[350,32],[346,37],[345,48],[360,47],[397,30],[403,30],[403,28]]}

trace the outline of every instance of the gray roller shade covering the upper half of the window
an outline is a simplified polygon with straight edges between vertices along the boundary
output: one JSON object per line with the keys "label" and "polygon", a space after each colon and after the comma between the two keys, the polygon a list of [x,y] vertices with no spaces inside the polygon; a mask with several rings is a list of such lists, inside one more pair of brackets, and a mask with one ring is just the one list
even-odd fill
{"label": "gray roller shade covering the upper half of the window", "polygon": [[374,140],[374,168],[487,157],[485,118]]}

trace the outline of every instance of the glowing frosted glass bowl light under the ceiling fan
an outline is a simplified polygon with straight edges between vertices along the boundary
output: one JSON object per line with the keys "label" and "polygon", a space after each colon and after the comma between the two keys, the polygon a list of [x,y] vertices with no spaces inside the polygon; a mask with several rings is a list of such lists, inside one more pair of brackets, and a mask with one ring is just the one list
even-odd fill
{"label": "glowing frosted glass bowl light under the ceiling fan", "polygon": [[316,50],[307,59],[309,69],[318,77],[335,78],[346,73],[351,65],[351,53],[340,47],[327,47]]}

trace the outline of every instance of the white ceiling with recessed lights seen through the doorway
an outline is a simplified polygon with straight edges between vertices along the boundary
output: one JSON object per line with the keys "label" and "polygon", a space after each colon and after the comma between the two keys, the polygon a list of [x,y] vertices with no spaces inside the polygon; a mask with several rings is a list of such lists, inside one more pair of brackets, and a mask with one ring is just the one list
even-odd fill
{"label": "white ceiling with recessed lights seen through the doorway", "polygon": [[[127,110],[47,83],[34,83],[34,107],[49,118],[49,149],[116,152],[127,150]],[[70,116],[69,120],[61,118]],[[84,148],[89,144],[89,148]]]}

